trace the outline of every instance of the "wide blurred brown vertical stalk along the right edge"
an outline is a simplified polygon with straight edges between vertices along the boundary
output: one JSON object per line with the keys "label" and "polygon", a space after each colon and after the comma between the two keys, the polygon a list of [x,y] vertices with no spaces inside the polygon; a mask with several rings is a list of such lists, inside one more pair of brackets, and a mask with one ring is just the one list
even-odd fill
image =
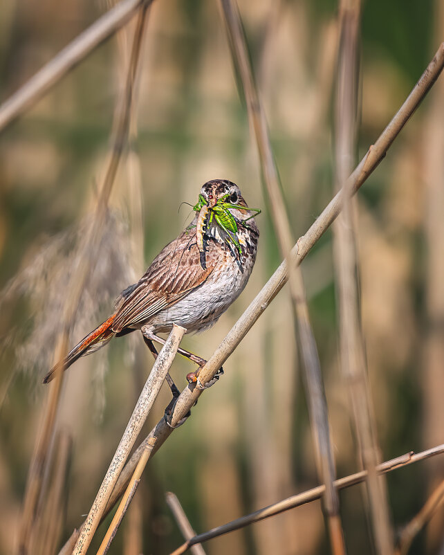
{"label": "wide blurred brown vertical stalk along the right edge", "polygon": [[[444,36],[444,3],[434,2],[434,37]],[[425,129],[418,138],[422,160],[418,175],[423,192],[423,233],[425,271],[425,313],[419,326],[422,347],[422,372],[418,386],[422,389],[423,418],[421,436],[425,445],[440,442],[444,430],[443,361],[444,361],[444,82],[440,80],[430,95]],[[440,438],[436,440],[436,438]],[[432,445],[432,444],[429,444]],[[434,491],[443,479],[443,466],[432,464],[427,472],[427,491]],[[438,552],[443,542],[444,507],[441,506],[427,527],[429,552]]]}

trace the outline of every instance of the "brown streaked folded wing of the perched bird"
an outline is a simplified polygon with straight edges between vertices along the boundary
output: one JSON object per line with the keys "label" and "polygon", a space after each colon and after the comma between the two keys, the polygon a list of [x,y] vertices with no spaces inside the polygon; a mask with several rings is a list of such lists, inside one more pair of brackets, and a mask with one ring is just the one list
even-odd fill
{"label": "brown streaked folded wing of the perched bird", "polygon": [[208,245],[207,268],[202,269],[194,233],[181,233],[156,256],[133,291],[118,303],[113,331],[142,325],[158,312],[172,307],[203,284],[216,266],[218,247]]}

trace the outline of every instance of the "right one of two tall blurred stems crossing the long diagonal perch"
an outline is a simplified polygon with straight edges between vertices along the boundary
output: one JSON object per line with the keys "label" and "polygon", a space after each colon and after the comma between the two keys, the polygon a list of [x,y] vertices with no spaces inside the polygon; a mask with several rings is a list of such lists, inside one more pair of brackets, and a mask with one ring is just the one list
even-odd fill
{"label": "right one of two tall blurred stems crossing the long diagonal perch", "polygon": [[340,51],[338,57],[335,170],[336,190],[341,188],[343,207],[334,226],[335,268],[337,295],[340,305],[341,366],[349,398],[360,460],[369,477],[371,522],[378,554],[391,555],[393,534],[389,518],[389,504],[385,479],[376,474],[380,462],[376,425],[367,383],[364,338],[358,308],[359,291],[356,278],[355,205],[347,178],[351,172],[358,116],[360,2],[342,0],[340,5]]}

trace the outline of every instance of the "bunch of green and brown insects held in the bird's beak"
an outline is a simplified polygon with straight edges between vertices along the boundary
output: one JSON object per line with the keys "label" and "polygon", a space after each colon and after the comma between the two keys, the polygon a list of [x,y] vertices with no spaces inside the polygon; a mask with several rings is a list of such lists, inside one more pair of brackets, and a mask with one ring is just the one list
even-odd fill
{"label": "bunch of green and brown insects held in the bird's beak", "polygon": [[229,208],[235,208],[236,210],[239,210],[239,209],[242,209],[243,207],[237,206],[236,204],[232,204],[229,202],[225,202],[226,199],[228,199],[228,197],[230,197],[230,194],[225,194],[225,196],[219,199],[219,201],[217,201],[212,208],[209,208],[207,206],[207,203],[203,195],[199,194],[198,203],[196,203],[193,206],[193,210],[195,210],[196,212],[199,212],[197,223],[196,223],[196,241],[197,241],[199,252],[201,253],[201,266],[203,269],[205,269],[206,267],[205,234],[207,232],[207,229],[212,224],[213,219],[216,221],[216,224],[225,231],[224,239],[225,239],[225,242],[228,244],[228,246],[232,248],[232,245],[234,245],[239,255],[242,255],[241,245],[239,244],[239,241],[237,240],[237,236],[236,236],[237,231],[239,229],[238,224],[240,224],[245,228],[248,228],[246,221],[248,221],[249,219],[252,219],[252,217],[255,217],[255,215],[258,215],[261,213],[261,210],[259,210],[259,208],[245,208],[245,210],[248,210],[250,212],[255,212],[255,214],[242,221],[238,220],[234,218]]}

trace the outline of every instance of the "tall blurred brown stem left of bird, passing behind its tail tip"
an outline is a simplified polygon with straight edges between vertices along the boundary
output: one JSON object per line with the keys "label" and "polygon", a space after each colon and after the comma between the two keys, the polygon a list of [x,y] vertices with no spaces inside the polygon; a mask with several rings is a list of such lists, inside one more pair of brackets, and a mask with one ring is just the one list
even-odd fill
{"label": "tall blurred brown stem left of bird, passing behind its tail tip", "polygon": [[[124,98],[122,98],[122,107],[115,124],[115,136],[107,173],[104,177],[102,188],[100,189],[100,195],[95,207],[89,233],[86,233],[83,243],[79,246],[80,264],[78,264],[71,275],[71,279],[67,286],[67,291],[70,291],[70,295],[66,301],[62,314],[62,331],[59,335],[57,349],[55,350],[55,356],[53,358],[54,363],[64,358],[68,352],[69,331],[75,322],[77,307],[80,304],[80,298],[88,282],[91,267],[99,254],[100,239],[102,236],[104,219],[107,215],[109,196],[122,155],[122,149],[127,140],[129,114],[131,113],[133,100],[133,84],[136,76],[136,68],[140,60],[140,44],[144,30],[145,14],[146,8],[143,8],[138,17],[136,33],[133,39],[126,88],[124,91]],[[50,440],[55,430],[56,415],[60,393],[62,391],[62,374],[63,371],[61,369],[58,375],[55,376],[54,384],[49,388],[48,401],[46,402],[42,424],[35,443],[35,452],[30,462],[24,498],[24,509],[21,516],[21,527],[19,531],[19,553],[21,554],[28,553],[29,538],[31,534],[35,534],[33,532],[33,527],[37,526],[37,504],[39,503],[39,498],[41,498],[42,483],[47,465],[50,462]]]}

